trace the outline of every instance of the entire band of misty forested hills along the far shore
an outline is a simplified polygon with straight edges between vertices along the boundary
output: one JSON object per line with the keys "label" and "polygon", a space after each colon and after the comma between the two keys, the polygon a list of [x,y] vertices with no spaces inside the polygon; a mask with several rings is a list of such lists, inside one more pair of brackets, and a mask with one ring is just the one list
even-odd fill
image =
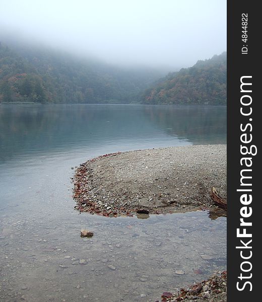
{"label": "entire band of misty forested hills along the far shore", "polygon": [[226,52],[170,72],[0,43],[0,102],[226,104]]}

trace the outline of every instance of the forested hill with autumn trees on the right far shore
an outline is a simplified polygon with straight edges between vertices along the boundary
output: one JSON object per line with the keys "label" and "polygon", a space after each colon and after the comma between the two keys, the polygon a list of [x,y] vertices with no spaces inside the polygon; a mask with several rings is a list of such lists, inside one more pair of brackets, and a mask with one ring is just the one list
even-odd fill
{"label": "forested hill with autumn trees on the right far shore", "polygon": [[226,104],[227,53],[169,73],[141,96],[143,104]]}

